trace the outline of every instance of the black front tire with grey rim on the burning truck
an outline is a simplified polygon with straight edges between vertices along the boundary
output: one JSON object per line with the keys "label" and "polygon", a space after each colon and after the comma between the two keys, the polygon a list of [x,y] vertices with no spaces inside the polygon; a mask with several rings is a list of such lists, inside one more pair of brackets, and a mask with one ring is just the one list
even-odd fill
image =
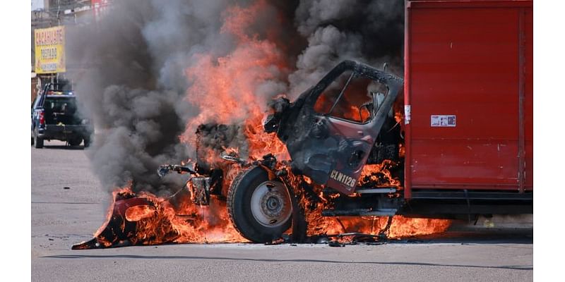
{"label": "black front tire with grey rim on the burning truck", "polygon": [[292,224],[292,202],[286,185],[269,180],[260,166],[235,178],[227,192],[227,213],[242,236],[255,243],[270,243]]}

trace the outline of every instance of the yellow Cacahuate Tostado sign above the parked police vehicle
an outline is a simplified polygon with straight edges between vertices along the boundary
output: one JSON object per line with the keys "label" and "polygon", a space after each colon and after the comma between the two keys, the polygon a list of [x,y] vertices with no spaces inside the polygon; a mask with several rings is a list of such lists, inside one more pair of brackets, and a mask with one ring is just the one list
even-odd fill
{"label": "yellow Cacahuate Tostado sign above the parked police vehicle", "polygon": [[65,27],[35,30],[35,73],[64,73]]}

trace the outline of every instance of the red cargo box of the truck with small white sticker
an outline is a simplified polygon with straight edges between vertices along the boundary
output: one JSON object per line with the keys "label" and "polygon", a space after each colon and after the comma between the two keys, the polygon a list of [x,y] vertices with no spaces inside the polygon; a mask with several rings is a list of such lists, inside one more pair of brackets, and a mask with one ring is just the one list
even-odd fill
{"label": "red cargo box of the truck with small white sticker", "polygon": [[406,198],[533,190],[532,6],[406,4]]}

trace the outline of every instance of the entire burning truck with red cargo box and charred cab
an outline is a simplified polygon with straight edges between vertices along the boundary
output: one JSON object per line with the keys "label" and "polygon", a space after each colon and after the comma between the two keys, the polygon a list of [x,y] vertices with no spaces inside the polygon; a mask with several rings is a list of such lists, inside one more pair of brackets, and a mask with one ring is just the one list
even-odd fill
{"label": "entire burning truck with red cargo box and charred cab", "polygon": [[[531,214],[532,2],[408,1],[405,17],[404,79],[343,61],[294,101],[274,99],[262,129],[282,159],[241,158],[229,147],[237,125],[198,126],[196,161],[157,171],[187,173],[184,187],[168,198],[115,191],[105,225],[73,249],[381,238],[411,218],[434,219],[424,226],[434,233],[441,219]],[[429,26],[441,29],[429,37]],[[478,42],[455,26],[509,38]]]}

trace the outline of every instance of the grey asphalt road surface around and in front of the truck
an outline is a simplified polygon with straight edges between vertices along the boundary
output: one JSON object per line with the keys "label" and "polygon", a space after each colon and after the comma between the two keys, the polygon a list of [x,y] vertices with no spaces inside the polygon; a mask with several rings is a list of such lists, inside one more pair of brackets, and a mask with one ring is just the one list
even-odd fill
{"label": "grey asphalt road surface around and in front of the truck", "polygon": [[82,147],[31,150],[32,281],[533,281],[533,228],[499,219],[384,245],[71,250],[100,227],[109,195]]}

